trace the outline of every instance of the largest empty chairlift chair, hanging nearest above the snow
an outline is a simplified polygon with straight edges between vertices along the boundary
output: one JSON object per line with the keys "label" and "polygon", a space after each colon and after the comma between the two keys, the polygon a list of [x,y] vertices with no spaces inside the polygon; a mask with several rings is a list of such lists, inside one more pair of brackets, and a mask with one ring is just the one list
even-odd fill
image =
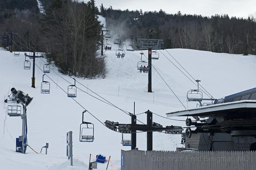
{"label": "largest empty chairlift chair, hanging nearest above the snow", "polygon": [[[94,125],[91,122],[84,122],[84,113],[83,112],[83,117],[82,117],[82,123],[80,124],[80,137],[79,141],[80,142],[93,142],[94,140]],[[92,135],[84,135],[87,130],[92,130]]]}

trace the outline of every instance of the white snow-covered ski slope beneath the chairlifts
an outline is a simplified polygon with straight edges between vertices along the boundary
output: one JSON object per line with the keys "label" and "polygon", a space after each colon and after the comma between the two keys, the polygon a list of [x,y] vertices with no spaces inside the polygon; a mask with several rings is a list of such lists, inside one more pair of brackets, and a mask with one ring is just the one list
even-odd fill
{"label": "white snow-covered ski slope beneath the chairlifts", "polygon": [[[115,38],[115,37],[113,37]],[[108,42],[109,43],[109,42]],[[117,45],[112,44],[112,51],[106,51],[109,72],[105,79],[84,80],[77,79],[80,83],[88,86],[92,91],[109,100],[117,107],[133,113],[133,102],[135,101],[135,113],[143,113],[148,109],[154,113],[166,117],[166,113],[183,109],[170,89],[164,84],[154,69],[152,69],[152,90],[147,92],[147,74],[137,70],[137,62],[140,61],[140,52],[126,52],[124,60],[116,58]],[[210,92],[214,98],[220,98],[235,92],[255,87],[255,65],[254,55],[229,55],[217,54],[190,49],[167,49],[180,64],[186,68],[196,79],[202,80],[201,85]],[[143,51],[147,54],[147,51]],[[162,52],[174,62],[166,51]],[[159,52],[160,53],[160,52]],[[41,94],[40,85],[42,71],[36,67],[36,88],[31,88],[31,70],[23,70],[24,53],[13,56],[13,53],[0,51],[0,96],[8,94],[9,87],[15,87],[34,97],[27,107],[28,117],[28,144],[37,152],[45,143],[49,143],[48,154],[36,154],[30,148],[27,154],[15,152],[14,139],[21,135],[20,117],[6,116],[6,107],[14,103],[4,104],[0,107],[0,169],[20,170],[63,170],[84,169],[88,167],[89,154],[92,160],[99,153],[111,156],[108,169],[120,169],[121,149],[129,150],[121,142],[121,133],[114,132],[103,126],[91,115],[86,114],[85,121],[94,123],[95,141],[93,143],[79,142],[79,126],[82,119],[83,108],[71,98],[68,98],[59,87],[45,77],[45,81],[51,83],[51,93]],[[145,59],[145,58],[144,58]],[[46,61],[46,59],[42,59]],[[36,64],[43,69],[43,61],[36,58]],[[32,62],[31,62],[32,63]],[[159,60],[154,60],[153,65],[165,79],[172,90],[177,94],[182,103],[187,107],[195,107],[196,103],[187,103],[186,94],[189,89],[196,86],[175,68],[161,53]],[[58,69],[51,65],[55,71]],[[59,73],[60,74],[60,73]],[[53,81],[58,82],[61,88],[67,91],[69,85],[52,70],[48,74]],[[61,75],[69,82],[73,79]],[[83,86],[77,87],[87,92]],[[119,96],[118,96],[119,89]],[[92,92],[88,91],[94,95]],[[95,95],[94,95],[95,96]],[[95,115],[101,122],[105,120],[130,123],[130,117],[115,107],[111,107],[88,94],[78,90],[76,100],[88,111]],[[146,114],[137,116],[138,120],[146,123]],[[182,117],[175,119],[185,120]],[[5,122],[5,123],[4,123]],[[179,125],[185,126],[184,122],[168,120],[153,115],[153,122],[163,126]],[[4,127],[5,124],[5,127]],[[66,132],[73,131],[73,155],[74,167],[70,167],[66,157]],[[124,135],[130,138],[130,135]],[[168,135],[164,133],[153,133],[154,150],[176,150],[181,147],[180,135]],[[146,150],[146,133],[137,134],[137,147]],[[42,151],[45,153],[45,150]],[[98,169],[105,169],[106,164],[98,164]]]}

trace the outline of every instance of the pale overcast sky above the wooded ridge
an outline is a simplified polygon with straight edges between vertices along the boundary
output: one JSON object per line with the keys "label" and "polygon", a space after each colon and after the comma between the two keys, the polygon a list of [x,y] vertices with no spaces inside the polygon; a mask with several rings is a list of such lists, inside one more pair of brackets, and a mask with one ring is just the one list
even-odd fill
{"label": "pale overcast sky above the wooded ridge", "polygon": [[96,0],[100,8],[103,3],[105,8],[112,5],[114,9],[129,9],[142,11],[159,11],[166,13],[201,14],[211,16],[214,14],[228,14],[231,16],[245,17],[256,12],[256,0]]}

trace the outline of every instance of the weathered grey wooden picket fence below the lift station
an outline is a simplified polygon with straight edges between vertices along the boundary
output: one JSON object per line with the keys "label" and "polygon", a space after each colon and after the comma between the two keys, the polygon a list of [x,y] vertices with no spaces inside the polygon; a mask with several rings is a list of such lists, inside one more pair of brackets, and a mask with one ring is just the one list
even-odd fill
{"label": "weathered grey wooden picket fence below the lift station", "polygon": [[256,170],[255,151],[123,151],[121,170]]}

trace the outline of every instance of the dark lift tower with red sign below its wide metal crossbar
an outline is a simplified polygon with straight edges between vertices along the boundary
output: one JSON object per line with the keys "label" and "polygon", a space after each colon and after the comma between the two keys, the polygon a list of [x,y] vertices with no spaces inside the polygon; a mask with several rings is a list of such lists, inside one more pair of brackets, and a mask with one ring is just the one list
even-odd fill
{"label": "dark lift tower with red sign below its wide metal crossbar", "polygon": [[140,39],[140,49],[148,49],[148,92],[152,92],[152,50],[163,49],[164,41],[159,39]]}

